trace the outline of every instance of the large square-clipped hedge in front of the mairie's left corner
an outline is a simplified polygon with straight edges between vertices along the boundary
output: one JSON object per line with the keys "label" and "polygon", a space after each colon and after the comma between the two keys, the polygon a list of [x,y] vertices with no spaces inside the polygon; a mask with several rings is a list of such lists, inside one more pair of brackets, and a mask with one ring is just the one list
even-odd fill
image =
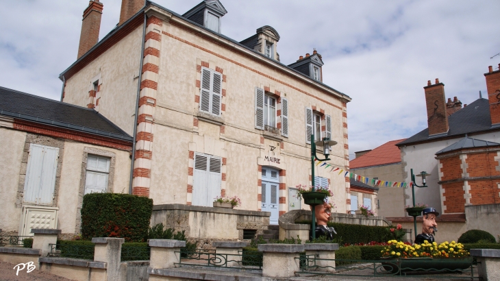
{"label": "large square-clipped hedge in front of the mairie's left corner", "polygon": [[119,193],[90,193],[82,206],[82,238],[121,237],[142,242],[147,236],[153,199]]}

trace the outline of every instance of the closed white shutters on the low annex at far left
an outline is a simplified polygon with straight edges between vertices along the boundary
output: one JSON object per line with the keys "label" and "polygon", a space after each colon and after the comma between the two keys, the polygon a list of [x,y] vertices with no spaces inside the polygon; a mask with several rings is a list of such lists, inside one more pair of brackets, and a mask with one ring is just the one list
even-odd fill
{"label": "closed white shutters on the low annex at far left", "polygon": [[59,149],[29,145],[23,200],[32,204],[52,204]]}

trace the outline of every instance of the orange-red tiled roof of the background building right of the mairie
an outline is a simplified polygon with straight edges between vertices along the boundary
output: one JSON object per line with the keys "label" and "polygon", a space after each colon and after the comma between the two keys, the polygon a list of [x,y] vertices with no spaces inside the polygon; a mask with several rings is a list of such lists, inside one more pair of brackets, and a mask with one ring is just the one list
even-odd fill
{"label": "orange-red tiled roof of the background building right of the mairie", "polygon": [[391,140],[384,145],[381,145],[372,151],[349,161],[349,168],[358,169],[371,166],[379,166],[386,164],[394,164],[401,162],[401,153],[399,147],[396,146],[401,140]]}

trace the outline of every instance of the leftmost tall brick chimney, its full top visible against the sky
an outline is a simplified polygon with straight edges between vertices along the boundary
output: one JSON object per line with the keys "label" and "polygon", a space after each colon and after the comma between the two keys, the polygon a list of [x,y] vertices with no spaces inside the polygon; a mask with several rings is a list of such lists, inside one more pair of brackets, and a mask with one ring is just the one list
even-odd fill
{"label": "leftmost tall brick chimney, its full top visible against the sky", "polygon": [[82,20],[78,58],[84,56],[99,41],[102,14],[103,4],[99,0],[92,0],[88,3],[88,7],[84,11],[84,19]]}

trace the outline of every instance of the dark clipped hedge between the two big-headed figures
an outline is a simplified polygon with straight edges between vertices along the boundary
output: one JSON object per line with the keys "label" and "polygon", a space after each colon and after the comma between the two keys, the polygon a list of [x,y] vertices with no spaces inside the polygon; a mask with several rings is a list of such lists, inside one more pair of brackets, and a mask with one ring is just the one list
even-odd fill
{"label": "dark clipped hedge between the two big-headed figures", "polygon": [[[311,221],[296,221],[295,223],[311,224]],[[328,222],[328,226],[335,228],[337,234],[334,239],[341,239],[343,243],[370,243],[387,242],[392,239],[392,234],[385,226],[355,225],[346,223]]]}

